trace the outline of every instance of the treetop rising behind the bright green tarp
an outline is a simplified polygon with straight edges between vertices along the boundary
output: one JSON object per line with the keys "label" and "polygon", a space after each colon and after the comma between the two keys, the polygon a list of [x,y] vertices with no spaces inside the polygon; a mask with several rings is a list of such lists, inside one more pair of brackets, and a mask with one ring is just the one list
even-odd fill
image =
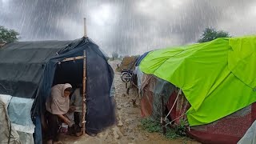
{"label": "treetop rising behind the bright green tarp", "polygon": [[230,34],[223,30],[215,30],[214,28],[206,28],[203,30],[201,37],[198,39],[198,42],[210,42],[216,38],[230,38]]}

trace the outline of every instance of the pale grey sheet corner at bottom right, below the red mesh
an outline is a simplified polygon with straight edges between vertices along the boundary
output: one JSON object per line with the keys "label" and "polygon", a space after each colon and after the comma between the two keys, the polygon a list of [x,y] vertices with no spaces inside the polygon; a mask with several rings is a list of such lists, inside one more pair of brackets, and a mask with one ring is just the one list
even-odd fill
{"label": "pale grey sheet corner at bottom right, below the red mesh", "polygon": [[256,121],[246,131],[246,134],[240,139],[238,144],[255,144],[256,143]]}

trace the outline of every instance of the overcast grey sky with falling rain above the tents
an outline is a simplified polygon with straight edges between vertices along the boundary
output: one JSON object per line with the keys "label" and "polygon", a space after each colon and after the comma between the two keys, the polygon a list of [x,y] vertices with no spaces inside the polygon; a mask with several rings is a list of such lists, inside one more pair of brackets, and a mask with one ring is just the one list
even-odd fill
{"label": "overcast grey sky with falling rain above the tents", "polygon": [[256,34],[255,0],[0,0],[0,26],[22,41],[87,34],[106,53],[142,54],[196,42],[206,27]]}

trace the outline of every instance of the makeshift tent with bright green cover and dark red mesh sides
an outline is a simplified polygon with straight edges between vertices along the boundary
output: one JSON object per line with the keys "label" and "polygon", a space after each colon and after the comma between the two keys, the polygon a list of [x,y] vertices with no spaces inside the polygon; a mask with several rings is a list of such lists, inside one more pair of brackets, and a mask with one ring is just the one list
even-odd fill
{"label": "makeshift tent with bright green cover and dark red mesh sides", "polygon": [[[186,114],[189,125],[194,129],[227,136],[222,142],[228,138],[238,142],[255,120],[255,60],[254,36],[218,38],[212,42],[151,51],[143,58],[138,69],[143,72],[138,78],[142,82],[142,114],[154,115],[154,111],[157,111],[154,107],[161,106],[161,101],[155,97],[163,96],[169,110],[175,101],[179,106],[174,106],[170,113],[173,120]],[[175,86],[182,90],[182,100],[176,100],[174,92],[177,94],[178,90],[173,90]],[[159,115],[158,120],[161,118]],[[226,130],[222,130],[223,125],[226,125]],[[202,142],[213,140],[213,135],[195,135],[199,140],[203,137],[209,140],[201,139]]]}

